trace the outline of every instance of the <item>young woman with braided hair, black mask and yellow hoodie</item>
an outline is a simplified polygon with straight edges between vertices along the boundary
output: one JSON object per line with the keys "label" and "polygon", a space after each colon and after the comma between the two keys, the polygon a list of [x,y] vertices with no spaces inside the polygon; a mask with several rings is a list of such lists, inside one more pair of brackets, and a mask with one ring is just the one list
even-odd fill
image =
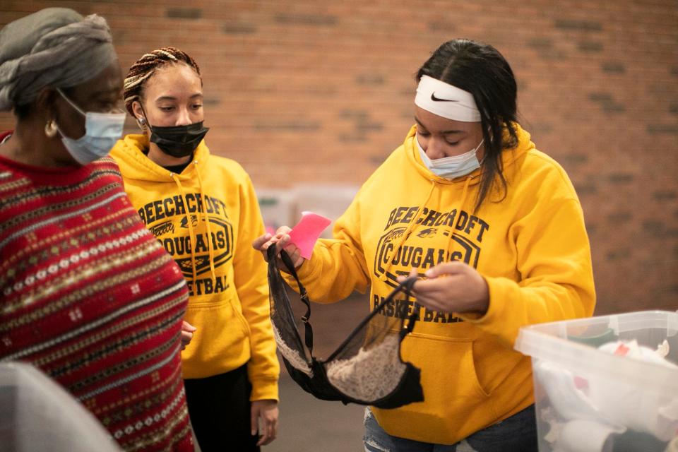
{"label": "young woman with braided hair, black mask and yellow hoodie", "polygon": [[[143,133],[112,150],[146,227],[189,285],[182,352],[186,400],[203,452],[257,451],[275,439],[278,374],[266,264],[250,244],[263,220],[248,174],[203,141],[200,69],[165,47],[143,55],[124,83]],[[191,334],[191,328],[185,328]]]}

